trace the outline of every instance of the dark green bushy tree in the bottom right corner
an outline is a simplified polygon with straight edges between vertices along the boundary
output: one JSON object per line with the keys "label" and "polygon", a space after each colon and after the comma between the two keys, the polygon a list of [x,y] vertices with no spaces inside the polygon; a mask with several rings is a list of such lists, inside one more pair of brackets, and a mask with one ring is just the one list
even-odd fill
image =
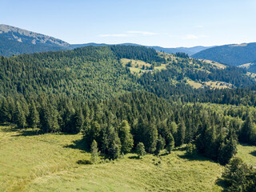
{"label": "dark green bushy tree in the bottom right corner", "polygon": [[224,191],[256,191],[256,172],[252,170],[241,158],[233,158],[222,174],[222,179],[226,182]]}

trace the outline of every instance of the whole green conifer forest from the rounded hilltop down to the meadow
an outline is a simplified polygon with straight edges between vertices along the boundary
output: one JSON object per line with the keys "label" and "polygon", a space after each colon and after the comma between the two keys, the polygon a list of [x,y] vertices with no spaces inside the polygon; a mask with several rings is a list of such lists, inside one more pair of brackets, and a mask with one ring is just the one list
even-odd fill
{"label": "whole green conifer forest from the rounded hilltop down to the meadow", "polygon": [[[150,68],[132,74],[124,58]],[[2,124],[38,134],[82,134],[92,162],[98,153],[108,159],[130,152],[158,156],[161,150],[186,146],[188,155],[228,165],[223,174],[228,191],[255,189],[250,167],[242,166],[246,173],[239,185],[230,180],[230,171],[239,171],[230,167],[243,165],[234,158],[238,143],[256,146],[256,80],[244,69],[219,68],[144,46],[22,54],[1,57],[0,65]],[[188,82],[229,87],[196,89]]]}

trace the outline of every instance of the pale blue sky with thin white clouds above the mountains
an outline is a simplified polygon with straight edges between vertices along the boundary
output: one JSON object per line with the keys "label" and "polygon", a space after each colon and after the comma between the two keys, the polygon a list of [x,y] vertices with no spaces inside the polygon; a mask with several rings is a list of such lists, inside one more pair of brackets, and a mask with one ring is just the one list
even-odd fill
{"label": "pale blue sky with thin white clouds above the mountains", "polygon": [[255,0],[0,0],[0,23],[70,43],[256,42]]}

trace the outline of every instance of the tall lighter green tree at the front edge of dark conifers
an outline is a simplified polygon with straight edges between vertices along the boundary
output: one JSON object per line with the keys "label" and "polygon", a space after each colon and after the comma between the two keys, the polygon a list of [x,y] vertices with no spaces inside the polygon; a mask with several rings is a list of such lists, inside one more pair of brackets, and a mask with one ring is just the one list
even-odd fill
{"label": "tall lighter green tree at the front edge of dark conifers", "polygon": [[134,139],[133,136],[130,134],[130,125],[126,120],[122,121],[121,126],[118,130],[118,135],[122,143],[122,153],[126,154],[130,152],[130,150],[134,146]]}

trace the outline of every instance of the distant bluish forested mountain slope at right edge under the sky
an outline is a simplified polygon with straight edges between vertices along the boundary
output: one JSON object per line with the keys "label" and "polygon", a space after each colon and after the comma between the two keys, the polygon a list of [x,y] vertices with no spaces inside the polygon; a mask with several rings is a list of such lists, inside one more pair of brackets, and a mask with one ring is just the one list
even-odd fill
{"label": "distant bluish forested mountain slope at right edge under the sky", "polygon": [[193,54],[192,58],[204,58],[231,66],[240,66],[256,61],[256,42],[215,46]]}

